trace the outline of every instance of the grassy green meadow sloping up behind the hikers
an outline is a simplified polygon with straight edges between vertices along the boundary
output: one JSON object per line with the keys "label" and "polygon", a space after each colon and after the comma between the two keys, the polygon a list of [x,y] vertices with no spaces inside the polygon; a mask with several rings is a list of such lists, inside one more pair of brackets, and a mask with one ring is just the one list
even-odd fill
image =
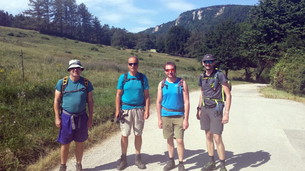
{"label": "grassy green meadow sloping up behind the hikers", "polygon": [[[94,86],[94,123],[85,148],[118,131],[118,125],[109,120],[115,111],[117,80],[128,71],[131,55],[138,57],[138,70],[149,79],[151,108],[155,107],[157,85],[165,78],[163,64],[167,61],[176,63],[177,75],[185,79],[190,91],[199,90],[198,77],[203,67],[195,59],[0,26],[0,170],[47,170],[59,164],[54,87],[69,75],[66,69],[71,59],[82,62],[82,76]],[[243,72],[229,72],[229,77],[242,80]]]}

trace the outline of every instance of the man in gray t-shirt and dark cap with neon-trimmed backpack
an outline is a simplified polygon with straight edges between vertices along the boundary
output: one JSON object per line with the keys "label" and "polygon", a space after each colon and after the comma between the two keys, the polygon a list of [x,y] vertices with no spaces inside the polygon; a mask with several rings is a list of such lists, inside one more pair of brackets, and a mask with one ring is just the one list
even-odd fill
{"label": "man in gray t-shirt and dark cap with neon-trimmed backpack", "polygon": [[[202,65],[206,71],[199,76],[201,94],[197,107],[197,119],[200,120],[201,129],[206,133],[206,146],[209,154],[209,162],[201,171],[215,170],[214,140],[217,145],[217,153],[220,159],[220,171],[225,168],[225,152],[221,134],[224,124],[229,122],[229,110],[231,106],[231,92],[224,73],[215,69],[215,57],[212,54],[203,56]],[[217,79],[216,79],[217,78]],[[222,89],[226,95],[223,99]],[[224,110],[224,100],[226,107]]]}

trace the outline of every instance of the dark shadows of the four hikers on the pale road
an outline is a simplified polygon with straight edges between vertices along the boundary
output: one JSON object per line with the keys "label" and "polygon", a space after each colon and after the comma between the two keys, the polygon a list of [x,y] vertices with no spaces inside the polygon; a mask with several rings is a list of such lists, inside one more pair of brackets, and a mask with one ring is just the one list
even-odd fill
{"label": "dark shadows of the four hikers on the pale road", "polygon": [[[215,150],[214,154],[217,154]],[[246,167],[258,167],[270,160],[270,154],[262,150],[257,152],[246,152],[242,154],[234,155],[233,152],[226,151],[226,165],[233,165],[234,167],[230,171],[239,171],[242,168]],[[118,156],[119,158],[120,156]],[[177,148],[175,148],[174,158],[178,159]],[[205,150],[188,150],[185,149],[184,158],[186,159],[183,163],[185,165],[194,165],[185,170],[198,170],[201,169],[209,160],[208,153]],[[217,161],[218,156],[215,156],[217,169],[219,168],[219,160]],[[120,159],[117,161],[103,164],[95,168],[87,168],[84,171],[100,171],[100,170],[113,170],[117,168]],[[128,166],[133,166],[135,161],[135,154],[127,155]],[[163,169],[163,166],[167,164],[168,161],[168,152],[164,152],[163,155],[155,154],[148,155],[142,154],[142,161],[149,167],[150,163],[157,163],[160,165],[160,169]],[[178,165],[178,163],[176,163]]]}

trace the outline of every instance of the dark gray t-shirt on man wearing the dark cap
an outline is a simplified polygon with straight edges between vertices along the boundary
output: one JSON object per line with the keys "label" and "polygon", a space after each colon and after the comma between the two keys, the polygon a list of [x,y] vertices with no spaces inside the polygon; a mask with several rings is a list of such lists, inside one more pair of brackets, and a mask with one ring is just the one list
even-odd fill
{"label": "dark gray t-shirt on man wearing the dark cap", "polygon": [[[227,78],[224,75],[224,73],[219,72],[217,75],[218,80],[216,81],[216,86],[215,86],[214,84],[215,84],[216,72],[217,70],[214,70],[212,74],[210,74],[209,76],[206,75],[205,73],[203,74],[203,77],[200,75],[198,86],[201,87],[201,90],[203,91],[203,97],[222,100],[221,85],[219,84],[219,82],[223,84],[224,82],[227,82]],[[214,90],[214,86],[215,86],[215,90]],[[221,103],[221,101],[218,101],[218,103]],[[205,98],[204,98],[204,104],[206,107],[216,106],[215,100],[210,100]]]}

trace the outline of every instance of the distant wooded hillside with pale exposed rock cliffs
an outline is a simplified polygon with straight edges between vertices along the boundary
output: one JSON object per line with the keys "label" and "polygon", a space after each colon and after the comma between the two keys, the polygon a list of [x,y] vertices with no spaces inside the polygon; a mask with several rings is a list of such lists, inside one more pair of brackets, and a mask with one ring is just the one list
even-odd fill
{"label": "distant wooded hillside with pale exposed rock cliffs", "polygon": [[183,26],[192,31],[199,29],[203,32],[210,30],[214,25],[228,18],[236,23],[242,23],[247,19],[253,5],[214,5],[200,9],[194,9],[181,13],[174,21],[151,27],[140,33],[165,34],[171,26]]}

